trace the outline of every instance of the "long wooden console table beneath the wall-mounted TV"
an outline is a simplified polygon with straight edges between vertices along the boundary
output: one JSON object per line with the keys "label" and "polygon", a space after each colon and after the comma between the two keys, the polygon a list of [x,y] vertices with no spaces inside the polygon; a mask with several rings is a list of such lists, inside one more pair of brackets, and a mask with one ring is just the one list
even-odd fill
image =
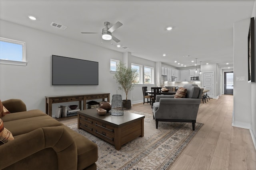
{"label": "long wooden console table beneath the wall-mounted TV", "polygon": [[52,116],[52,104],[54,103],[64,103],[64,102],[79,102],[79,109],[82,110],[82,101],[83,109],[86,109],[86,100],[93,99],[102,99],[105,101],[107,98],[107,102],[110,102],[110,93],[93,93],[93,94],[74,94],[74,95],[64,95],[64,96],[45,96],[46,102],[46,114]]}

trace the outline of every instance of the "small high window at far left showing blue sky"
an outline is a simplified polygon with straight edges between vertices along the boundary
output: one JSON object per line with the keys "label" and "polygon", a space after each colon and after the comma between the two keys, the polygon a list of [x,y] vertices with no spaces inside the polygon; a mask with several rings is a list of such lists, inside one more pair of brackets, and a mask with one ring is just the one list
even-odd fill
{"label": "small high window at far left showing blue sky", "polygon": [[26,65],[25,42],[0,37],[0,63]]}

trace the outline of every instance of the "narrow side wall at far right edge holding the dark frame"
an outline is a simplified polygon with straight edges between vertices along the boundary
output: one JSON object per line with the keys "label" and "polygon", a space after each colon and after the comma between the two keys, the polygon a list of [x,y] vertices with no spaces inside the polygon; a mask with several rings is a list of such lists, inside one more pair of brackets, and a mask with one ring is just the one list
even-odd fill
{"label": "narrow side wall at far right edge holding the dark frame", "polygon": [[[254,17],[254,24],[256,23],[256,0],[254,1],[253,11],[252,11],[252,17]],[[254,25],[254,28],[256,28],[256,25]],[[254,35],[254,39],[256,40],[256,34]],[[256,48],[255,53],[256,54]],[[256,148],[256,83],[251,83],[251,135],[252,139],[254,141],[254,147]]]}

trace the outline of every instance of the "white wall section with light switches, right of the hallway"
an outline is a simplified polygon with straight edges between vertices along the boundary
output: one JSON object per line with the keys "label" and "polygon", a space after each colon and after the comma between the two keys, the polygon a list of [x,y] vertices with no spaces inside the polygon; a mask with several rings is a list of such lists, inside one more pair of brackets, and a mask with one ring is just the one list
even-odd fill
{"label": "white wall section with light switches, right of the hallway", "polygon": [[[232,125],[251,127],[251,83],[248,83],[248,30],[250,18],[234,23],[234,113]],[[245,77],[236,81],[236,77]]]}

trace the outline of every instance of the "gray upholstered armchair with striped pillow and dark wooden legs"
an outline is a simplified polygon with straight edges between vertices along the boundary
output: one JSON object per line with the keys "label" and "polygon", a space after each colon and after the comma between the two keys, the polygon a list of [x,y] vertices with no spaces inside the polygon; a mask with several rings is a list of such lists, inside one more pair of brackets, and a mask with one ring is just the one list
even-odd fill
{"label": "gray upholstered armchair with striped pillow and dark wooden legs", "polygon": [[174,95],[157,95],[153,104],[153,118],[158,121],[192,122],[195,130],[196,116],[201,103],[203,89],[197,85],[186,84],[186,98],[174,98]]}

